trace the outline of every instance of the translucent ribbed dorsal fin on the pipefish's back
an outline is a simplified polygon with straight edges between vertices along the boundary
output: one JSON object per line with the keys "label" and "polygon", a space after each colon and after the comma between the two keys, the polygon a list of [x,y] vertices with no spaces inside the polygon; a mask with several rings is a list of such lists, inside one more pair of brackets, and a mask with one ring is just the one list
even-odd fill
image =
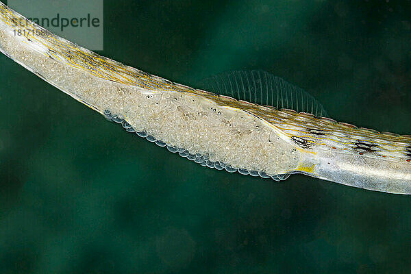
{"label": "translucent ribbed dorsal fin on the pipefish's back", "polygon": [[208,77],[196,88],[238,100],[327,116],[325,108],[308,92],[266,71],[230,71]]}

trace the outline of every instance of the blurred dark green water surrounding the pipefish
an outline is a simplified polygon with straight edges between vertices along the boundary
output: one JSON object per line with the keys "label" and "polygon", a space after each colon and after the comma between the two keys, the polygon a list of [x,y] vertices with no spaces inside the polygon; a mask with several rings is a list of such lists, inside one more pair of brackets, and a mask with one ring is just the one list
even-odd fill
{"label": "blurred dark green water surrounding the pipefish", "polygon": [[[102,55],[192,85],[262,69],[411,134],[410,1],[105,1]],[[0,273],[410,273],[411,197],[208,169],[0,55]]]}

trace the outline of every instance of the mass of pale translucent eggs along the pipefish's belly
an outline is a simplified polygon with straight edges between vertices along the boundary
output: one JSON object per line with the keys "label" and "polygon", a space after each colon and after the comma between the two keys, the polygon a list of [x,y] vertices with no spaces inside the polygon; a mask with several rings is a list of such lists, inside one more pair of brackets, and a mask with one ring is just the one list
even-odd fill
{"label": "mass of pale translucent eggs along the pipefish's belly", "polygon": [[95,77],[22,39],[0,29],[0,49],[13,60],[90,108],[127,123],[129,131],[173,152],[196,155],[190,158],[216,169],[262,177],[298,166],[299,151],[292,143],[249,112],[177,89],[148,90]]}

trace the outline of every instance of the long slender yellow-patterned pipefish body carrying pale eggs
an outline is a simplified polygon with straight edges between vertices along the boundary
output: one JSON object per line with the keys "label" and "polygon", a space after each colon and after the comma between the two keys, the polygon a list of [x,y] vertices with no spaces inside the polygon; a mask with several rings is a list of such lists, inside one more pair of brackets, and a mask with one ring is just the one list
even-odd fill
{"label": "long slender yellow-patterned pipefish body carrying pale eggs", "polygon": [[203,166],[411,193],[411,136],[175,84],[50,34],[1,2],[0,50],[128,132]]}

